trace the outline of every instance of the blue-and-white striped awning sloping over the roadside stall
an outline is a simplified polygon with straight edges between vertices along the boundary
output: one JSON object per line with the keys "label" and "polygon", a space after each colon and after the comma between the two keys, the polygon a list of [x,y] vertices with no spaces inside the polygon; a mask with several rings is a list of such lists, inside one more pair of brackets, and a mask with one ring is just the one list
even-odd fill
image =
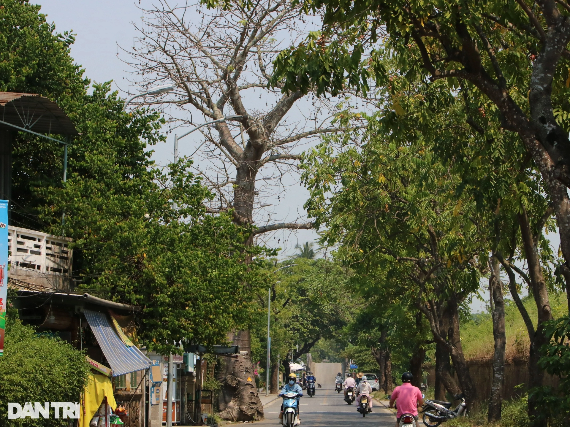
{"label": "blue-and-white striped awning sloping over the roadside stall", "polygon": [[142,371],[150,367],[150,360],[136,345],[125,345],[109,320],[109,315],[98,311],[83,310],[97,343],[107,358],[113,377],[129,372]]}

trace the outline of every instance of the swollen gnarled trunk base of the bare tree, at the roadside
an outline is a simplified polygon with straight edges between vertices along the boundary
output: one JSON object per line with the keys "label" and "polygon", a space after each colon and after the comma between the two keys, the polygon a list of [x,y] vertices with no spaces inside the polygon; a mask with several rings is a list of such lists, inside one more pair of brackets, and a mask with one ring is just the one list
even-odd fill
{"label": "swollen gnarled trunk base of the bare tree, at the roadside", "polygon": [[237,358],[228,358],[218,373],[222,383],[219,392],[219,415],[228,421],[253,421],[263,417],[263,405],[257,395],[249,331],[230,332],[229,340],[239,345]]}

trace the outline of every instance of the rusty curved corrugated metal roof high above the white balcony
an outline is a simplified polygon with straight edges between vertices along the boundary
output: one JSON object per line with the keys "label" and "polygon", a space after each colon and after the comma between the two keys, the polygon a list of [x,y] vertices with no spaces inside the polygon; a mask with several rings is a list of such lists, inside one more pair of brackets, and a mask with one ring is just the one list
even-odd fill
{"label": "rusty curved corrugated metal roof high above the white balcony", "polygon": [[58,104],[35,93],[0,92],[0,120],[38,133],[78,135]]}

